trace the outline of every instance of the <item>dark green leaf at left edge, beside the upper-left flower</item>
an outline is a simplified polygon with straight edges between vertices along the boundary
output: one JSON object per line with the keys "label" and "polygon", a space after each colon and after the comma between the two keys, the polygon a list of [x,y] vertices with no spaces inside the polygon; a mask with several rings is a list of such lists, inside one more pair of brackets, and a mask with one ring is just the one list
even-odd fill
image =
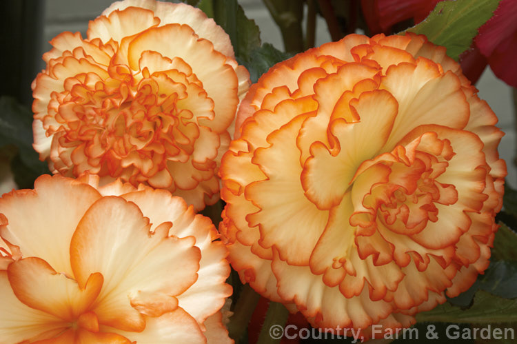
{"label": "dark green leaf at left edge, beside the upper-left flower", "polygon": [[20,188],[32,188],[34,179],[50,173],[32,148],[32,112],[12,97],[0,97],[0,146],[14,145],[17,156],[11,161],[14,181]]}

